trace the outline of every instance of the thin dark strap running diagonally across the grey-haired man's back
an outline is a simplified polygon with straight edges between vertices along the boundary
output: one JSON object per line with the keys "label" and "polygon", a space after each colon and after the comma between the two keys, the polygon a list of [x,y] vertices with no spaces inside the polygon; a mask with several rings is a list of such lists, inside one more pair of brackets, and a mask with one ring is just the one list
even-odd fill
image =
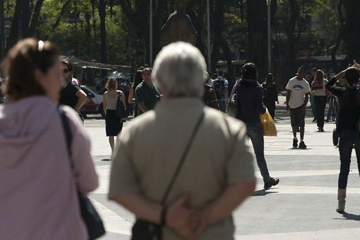
{"label": "thin dark strap running diagonally across the grey-haired man's back", "polygon": [[184,162],[187,158],[187,154],[189,153],[189,150],[190,150],[190,147],[191,147],[191,144],[193,143],[193,140],[195,139],[195,136],[196,136],[196,133],[197,133],[197,130],[199,130],[200,128],[200,124],[202,123],[202,120],[204,119],[204,110],[202,111],[202,114],[200,116],[200,119],[197,121],[196,125],[195,125],[195,128],[193,129],[193,132],[190,136],[190,139],[189,139],[189,142],[187,143],[187,146],[185,147],[185,150],[180,158],[180,162],[178,163],[178,166],[176,167],[176,171],[175,173],[173,173],[173,177],[171,178],[171,181],[169,183],[169,185],[167,186],[167,189],[165,191],[165,194],[163,196],[163,200],[161,200],[161,204],[165,204],[166,200],[167,200],[167,197],[169,196],[169,193],[173,187],[173,184],[175,183],[176,181],[176,178],[178,178],[178,175],[180,173],[180,170],[182,169],[182,165],[184,165]]}

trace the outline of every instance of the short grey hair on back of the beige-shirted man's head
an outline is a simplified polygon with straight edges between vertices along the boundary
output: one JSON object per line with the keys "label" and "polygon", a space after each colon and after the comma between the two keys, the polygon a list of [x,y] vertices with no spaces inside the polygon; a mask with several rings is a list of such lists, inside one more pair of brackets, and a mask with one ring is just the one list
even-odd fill
{"label": "short grey hair on back of the beige-shirted man's head", "polygon": [[206,62],[199,49],[171,43],[158,53],[152,79],[169,97],[202,97]]}

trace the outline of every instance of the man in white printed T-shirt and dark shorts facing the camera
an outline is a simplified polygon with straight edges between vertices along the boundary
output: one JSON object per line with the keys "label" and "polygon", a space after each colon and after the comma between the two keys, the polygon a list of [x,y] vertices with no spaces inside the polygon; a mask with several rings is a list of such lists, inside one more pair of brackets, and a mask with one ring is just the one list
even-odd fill
{"label": "man in white printed T-shirt and dark shorts facing the camera", "polygon": [[304,143],[304,130],[305,130],[305,107],[309,100],[310,85],[307,80],[304,79],[305,68],[299,67],[298,75],[291,78],[287,83],[287,96],[286,106],[290,111],[291,128],[293,129],[293,147],[298,147],[298,139],[296,138],[296,132],[298,127],[300,128],[300,144],[299,148],[307,148]]}

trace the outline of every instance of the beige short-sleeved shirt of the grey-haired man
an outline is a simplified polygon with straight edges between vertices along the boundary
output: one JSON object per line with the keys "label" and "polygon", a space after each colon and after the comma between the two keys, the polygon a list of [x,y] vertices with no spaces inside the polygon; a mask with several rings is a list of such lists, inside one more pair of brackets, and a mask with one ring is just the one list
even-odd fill
{"label": "beige short-sleeved shirt of the grey-haired man", "polygon": [[[165,99],[121,132],[111,167],[109,197],[139,193],[160,202],[203,111],[204,120],[166,203],[190,193],[188,205],[203,208],[229,184],[255,181],[244,123],[204,108],[200,99]],[[234,232],[229,216],[198,239],[234,239]],[[165,228],[164,239],[181,238]]]}

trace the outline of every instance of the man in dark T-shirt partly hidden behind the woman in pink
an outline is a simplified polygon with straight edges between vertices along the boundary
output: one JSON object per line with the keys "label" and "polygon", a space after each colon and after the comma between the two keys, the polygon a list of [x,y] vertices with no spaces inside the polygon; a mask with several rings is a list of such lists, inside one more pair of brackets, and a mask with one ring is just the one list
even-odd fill
{"label": "man in dark T-shirt partly hidden behind the woman in pink", "polygon": [[60,104],[73,108],[84,121],[79,111],[88,96],[80,88],[79,81],[73,77],[73,65],[69,60],[63,59],[60,61],[60,80],[64,82],[64,88],[60,93]]}

